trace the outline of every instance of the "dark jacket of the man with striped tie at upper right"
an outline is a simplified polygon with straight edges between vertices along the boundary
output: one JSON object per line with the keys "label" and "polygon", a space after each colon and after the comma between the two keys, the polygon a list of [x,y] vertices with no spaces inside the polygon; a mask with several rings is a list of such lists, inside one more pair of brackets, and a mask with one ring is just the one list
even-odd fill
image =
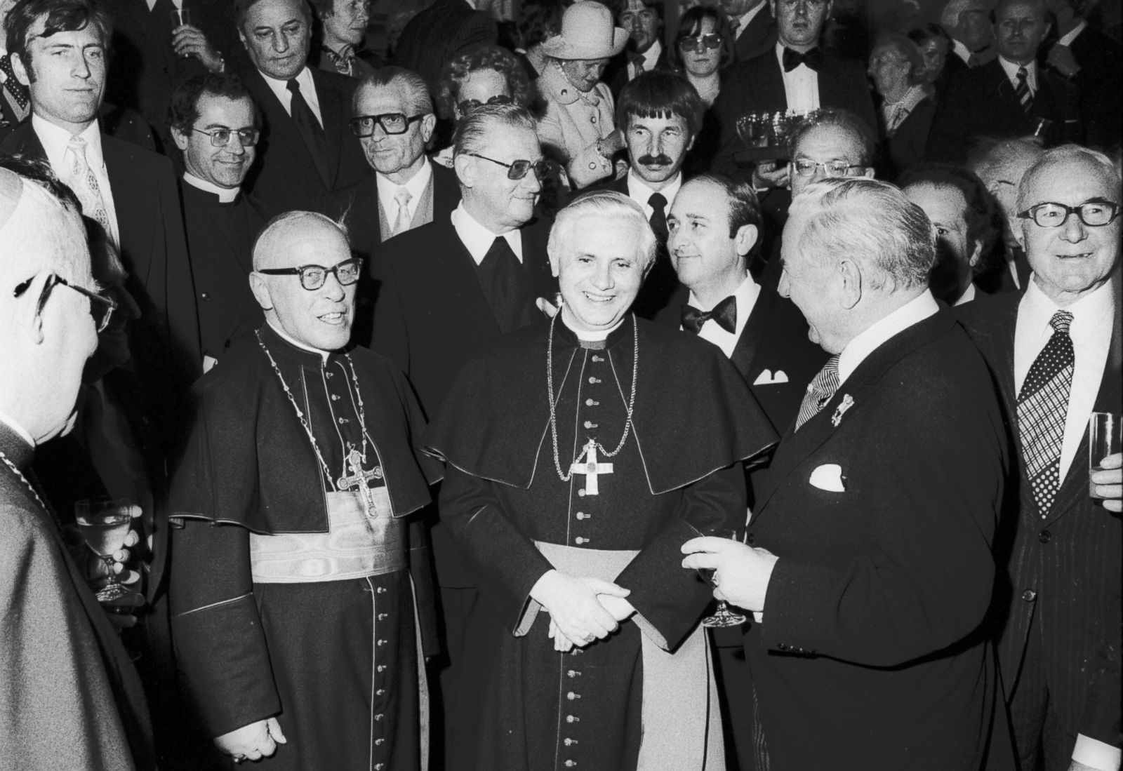
{"label": "dark jacket of the man with striped tie at upper right", "polygon": [[1038,67],[1038,92],[1026,113],[1002,64],[994,59],[958,75],[948,86],[948,99],[938,107],[928,137],[929,159],[964,163],[980,137],[1031,136],[1042,118],[1052,121],[1046,134],[1049,144],[1083,139],[1072,84]]}

